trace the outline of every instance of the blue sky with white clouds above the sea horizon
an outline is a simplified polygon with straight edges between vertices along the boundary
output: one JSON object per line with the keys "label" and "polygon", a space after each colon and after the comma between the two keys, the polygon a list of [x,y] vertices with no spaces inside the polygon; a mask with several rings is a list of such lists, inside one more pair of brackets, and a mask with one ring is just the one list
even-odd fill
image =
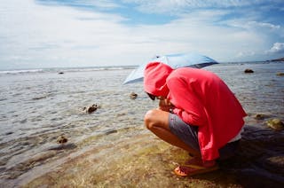
{"label": "blue sky with white clouds above the sea horizon", "polygon": [[0,69],[284,57],[283,0],[0,0]]}

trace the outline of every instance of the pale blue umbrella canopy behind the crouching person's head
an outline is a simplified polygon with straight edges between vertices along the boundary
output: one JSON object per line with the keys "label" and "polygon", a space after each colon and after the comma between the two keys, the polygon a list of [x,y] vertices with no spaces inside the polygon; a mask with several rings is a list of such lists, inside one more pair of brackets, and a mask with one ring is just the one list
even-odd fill
{"label": "pale blue umbrella canopy behind the crouching person's head", "polygon": [[[210,59],[207,56],[193,52],[157,56],[154,59],[151,59],[149,62],[162,62],[174,69],[178,67],[201,68],[217,64],[216,60]],[[131,82],[142,82],[144,77],[144,69],[149,62],[143,63],[137,69],[133,70],[125,79],[123,84]]]}

